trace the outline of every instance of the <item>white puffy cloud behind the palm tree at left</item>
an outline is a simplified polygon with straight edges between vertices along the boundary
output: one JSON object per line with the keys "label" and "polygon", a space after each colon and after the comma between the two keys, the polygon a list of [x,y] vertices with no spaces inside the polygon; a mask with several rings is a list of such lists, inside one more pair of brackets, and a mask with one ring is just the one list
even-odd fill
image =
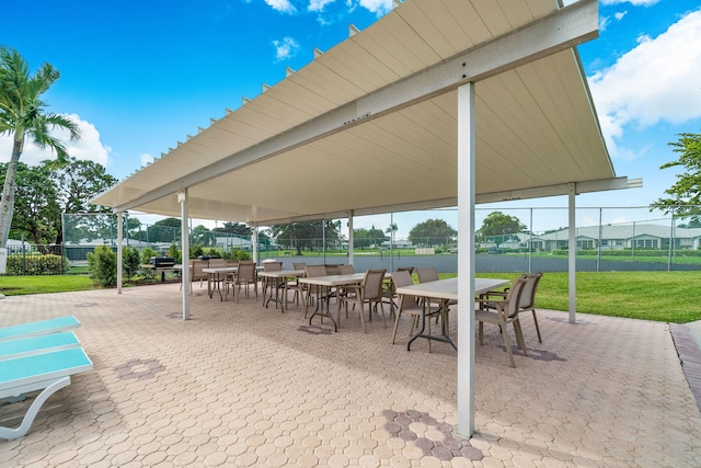
{"label": "white puffy cloud behind the palm tree at left", "polygon": [[[66,117],[73,121],[81,132],[79,141],[70,141],[70,134],[67,130],[51,132],[51,136],[58,138],[66,146],[68,155],[76,159],[95,161],[106,167],[110,160],[112,148],[100,141],[100,132],[90,122],[82,121],[76,114],[66,114]],[[0,136],[0,162],[8,162],[12,156],[12,137],[10,135]],[[56,159],[56,152],[49,149],[41,149],[36,145],[26,140],[24,151],[20,161],[27,165],[36,165],[47,159]]]}

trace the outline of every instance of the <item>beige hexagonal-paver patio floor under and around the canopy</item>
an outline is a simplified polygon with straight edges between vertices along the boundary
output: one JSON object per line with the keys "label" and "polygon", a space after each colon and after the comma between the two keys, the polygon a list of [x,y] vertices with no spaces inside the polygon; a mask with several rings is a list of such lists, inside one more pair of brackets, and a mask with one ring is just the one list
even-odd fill
{"label": "beige hexagonal-paver patio floor under and around the canopy", "polygon": [[[526,317],[529,356],[516,368],[487,327],[468,441],[455,433],[448,345],[428,354],[420,340],[407,353],[406,328],[392,346],[379,319],[364,334],[355,313],[333,333],[301,307],[280,313],[205,292],[195,286],[189,321],[177,284],[2,300],[0,326],[77,316],[95,369],[53,396],[27,436],[0,441],[0,466],[701,463],[701,415],[668,324],[587,315],[571,324],[540,310],[544,343]],[[2,424],[23,404],[0,406]]]}

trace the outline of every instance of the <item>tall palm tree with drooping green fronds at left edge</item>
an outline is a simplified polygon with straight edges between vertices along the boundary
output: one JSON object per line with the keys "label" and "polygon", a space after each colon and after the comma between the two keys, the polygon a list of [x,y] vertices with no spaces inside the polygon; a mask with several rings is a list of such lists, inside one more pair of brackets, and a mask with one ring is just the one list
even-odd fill
{"label": "tall palm tree with drooping green fronds at left edge", "polygon": [[18,162],[24,149],[25,138],[39,148],[56,151],[58,162],[68,158],[66,147],[49,130],[64,128],[70,132],[71,140],[80,138],[78,126],[69,118],[45,113],[46,103],[41,96],[60,77],[50,64],[44,64],[30,77],[26,60],[13,48],[0,47],[0,136],[12,136],[12,157],[0,199],[0,248],[5,247],[14,214],[14,190]]}

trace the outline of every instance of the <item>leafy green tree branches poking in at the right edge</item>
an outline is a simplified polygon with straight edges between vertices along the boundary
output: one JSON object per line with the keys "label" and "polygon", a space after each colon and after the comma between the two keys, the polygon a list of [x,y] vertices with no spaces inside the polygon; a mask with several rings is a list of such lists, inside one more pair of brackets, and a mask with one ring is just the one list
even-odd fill
{"label": "leafy green tree branches poking in at the right edge", "polygon": [[651,208],[663,209],[665,213],[674,210],[675,216],[690,217],[689,222],[696,226],[701,220],[701,134],[680,134],[679,140],[669,146],[679,153],[679,159],[667,162],[659,169],[683,168],[683,172],[665,191],[669,197],[658,198],[651,204]]}

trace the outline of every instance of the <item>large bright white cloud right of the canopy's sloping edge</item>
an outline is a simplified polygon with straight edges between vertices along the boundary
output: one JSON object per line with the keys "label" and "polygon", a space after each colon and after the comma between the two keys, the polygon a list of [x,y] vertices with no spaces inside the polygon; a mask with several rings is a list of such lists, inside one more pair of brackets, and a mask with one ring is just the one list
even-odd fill
{"label": "large bright white cloud right of the canopy's sloping edge", "polygon": [[612,156],[627,126],[647,128],[701,117],[701,10],[639,45],[589,77],[601,129]]}

